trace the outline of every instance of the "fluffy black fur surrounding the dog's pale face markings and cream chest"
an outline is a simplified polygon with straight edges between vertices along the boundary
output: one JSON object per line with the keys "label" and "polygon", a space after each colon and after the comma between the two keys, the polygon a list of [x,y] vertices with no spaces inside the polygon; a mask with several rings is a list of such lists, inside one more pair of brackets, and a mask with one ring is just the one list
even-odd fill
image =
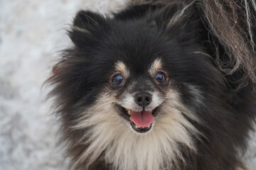
{"label": "fluffy black fur surrounding the dog's pale face markings and cream chest", "polygon": [[[49,81],[55,84],[50,95],[56,97],[57,113],[62,122],[63,138],[68,156],[75,169],[83,169],[86,160],[76,162],[88,145],[80,144],[87,129],[73,130],[82,111],[94,105],[105,87],[114,88],[109,79],[117,61],[131,70],[131,79],[146,77],[149,65],[160,58],[172,87],[181,94],[182,102],[196,112],[201,123],[187,118],[200,132],[194,137],[197,152],[180,144],[185,162],[178,160],[173,169],[228,170],[244,167],[240,153],[247,145],[247,133],[254,120],[250,108],[254,105],[252,87],[235,91],[235,81],[245,74],[242,70],[225,75],[215,64],[215,44],[218,38],[210,34],[201,12],[191,6],[174,24],[171,18],[183,4],[168,6],[130,6],[105,18],[91,11],[80,11],[69,30],[74,47],[65,50],[63,59],[55,65]],[[225,48],[220,58],[225,60]],[[198,53],[199,52],[199,53]],[[201,89],[202,105],[198,105],[191,89]],[[165,89],[166,90],[166,89]],[[160,91],[165,91],[160,88]],[[104,152],[102,153],[104,155]],[[102,157],[89,169],[111,169]]]}

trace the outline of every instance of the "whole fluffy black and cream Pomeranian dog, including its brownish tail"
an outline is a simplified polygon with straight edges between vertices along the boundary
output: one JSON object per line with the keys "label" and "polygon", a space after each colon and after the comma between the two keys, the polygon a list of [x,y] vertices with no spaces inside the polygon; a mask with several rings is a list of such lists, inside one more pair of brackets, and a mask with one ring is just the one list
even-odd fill
{"label": "whole fluffy black and cream Pomeranian dog, including its brownish tail", "polygon": [[68,30],[74,47],[48,79],[71,168],[246,169],[255,1],[245,2],[78,12]]}

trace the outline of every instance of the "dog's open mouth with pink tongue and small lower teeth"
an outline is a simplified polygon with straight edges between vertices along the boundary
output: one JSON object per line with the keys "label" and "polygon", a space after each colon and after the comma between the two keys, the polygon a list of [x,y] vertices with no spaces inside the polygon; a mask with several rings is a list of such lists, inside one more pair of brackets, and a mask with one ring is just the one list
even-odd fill
{"label": "dog's open mouth with pink tongue and small lower teeth", "polygon": [[152,124],[154,122],[154,113],[156,112],[156,108],[153,111],[143,111],[137,112],[132,111],[128,108],[124,108],[118,105],[118,108],[124,113],[124,117],[129,120],[132,128],[139,133],[148,132],[152,128]]}

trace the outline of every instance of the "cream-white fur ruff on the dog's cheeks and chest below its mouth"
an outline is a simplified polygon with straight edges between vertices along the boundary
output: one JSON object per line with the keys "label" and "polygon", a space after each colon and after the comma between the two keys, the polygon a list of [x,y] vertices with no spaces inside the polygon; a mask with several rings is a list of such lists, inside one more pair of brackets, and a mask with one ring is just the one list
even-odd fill
{"label": "cream-white fur ruff on the dog's cheeks and chest below its mouth", "polygon": [[88,167],[105,152],[103,159],[112,164],[113,169],[173,169],[177,159],[183,160],[178,143],[196,152],[191,136],[197,136],[199,132],[183,114],[193,115],[191,117],[195,120],[196,115],[183,106],[174,91],[169,91],[157,110],[152,129],[145,134],[135,132],[119,115],[115,106],[117,102],[114,96],[102,94],[72,127],[90,129],[85,133],[85,137],[89,137],[86,143],[90,145],[78,162],[86,161]]}

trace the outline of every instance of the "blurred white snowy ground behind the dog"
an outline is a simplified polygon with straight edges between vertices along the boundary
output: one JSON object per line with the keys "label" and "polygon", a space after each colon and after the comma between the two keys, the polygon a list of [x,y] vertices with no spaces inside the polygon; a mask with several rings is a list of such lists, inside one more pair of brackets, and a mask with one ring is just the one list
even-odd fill
{"label": "blurred white snowy ground behind the dog", "polygon": [[[115,11],[128,0],[0,0],[0,170],[67,169],[41,89],[65,28],[80,8]],[[256,169],[256,141],[246,160]]]}

